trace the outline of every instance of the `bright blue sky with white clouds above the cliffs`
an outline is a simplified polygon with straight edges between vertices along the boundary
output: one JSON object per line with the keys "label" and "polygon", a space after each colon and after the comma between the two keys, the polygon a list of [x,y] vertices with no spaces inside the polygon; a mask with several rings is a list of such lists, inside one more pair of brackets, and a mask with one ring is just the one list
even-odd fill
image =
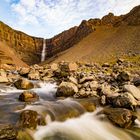
{"label": "bright blue sky with white clouds above the cliffs", "polygon": [[29,35],[51,38],[82,20],[128,13],[140,0],[0,0],[0,20]]}

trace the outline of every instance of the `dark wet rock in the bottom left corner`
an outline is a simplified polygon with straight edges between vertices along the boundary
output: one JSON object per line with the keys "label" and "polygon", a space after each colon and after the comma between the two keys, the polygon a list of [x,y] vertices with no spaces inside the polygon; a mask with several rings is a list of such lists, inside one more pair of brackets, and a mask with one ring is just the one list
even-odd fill
{"label": "dark wet rock in the bottom left corner", "polygon": [[9,124],[0,124],[0,139],[1,140],[15,140],[17,137],[17,130]]}

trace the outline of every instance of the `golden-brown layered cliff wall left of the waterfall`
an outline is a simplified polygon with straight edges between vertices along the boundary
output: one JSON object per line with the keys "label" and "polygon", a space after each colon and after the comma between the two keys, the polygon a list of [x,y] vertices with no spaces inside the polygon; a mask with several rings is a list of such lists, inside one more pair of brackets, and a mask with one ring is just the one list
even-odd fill
{"label": "golden-brown layered cliff wall left of the waterfall", "polygon": [[15,55],[27,64],[31,65],[40,62],[42,38],[31,37],[0,22],[0,41],[11,47]]}

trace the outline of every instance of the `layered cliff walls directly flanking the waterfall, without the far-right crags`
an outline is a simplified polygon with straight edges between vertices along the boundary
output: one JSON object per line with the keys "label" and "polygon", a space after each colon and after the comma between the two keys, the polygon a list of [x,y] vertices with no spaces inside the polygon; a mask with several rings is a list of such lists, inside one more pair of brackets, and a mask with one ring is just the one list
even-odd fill
{"label": "layered cliff walls directly flanking the waterfall, without the far-right crags", "polygon": [[[83,21],[79,27],[73,27],[51,39],[46,39],[46,59],[72,47],[93,31],[94,28]],[[0,41],[12,48],[15,55],[28,65],[40,63],[43,38],[29,36],[0,22]]]}

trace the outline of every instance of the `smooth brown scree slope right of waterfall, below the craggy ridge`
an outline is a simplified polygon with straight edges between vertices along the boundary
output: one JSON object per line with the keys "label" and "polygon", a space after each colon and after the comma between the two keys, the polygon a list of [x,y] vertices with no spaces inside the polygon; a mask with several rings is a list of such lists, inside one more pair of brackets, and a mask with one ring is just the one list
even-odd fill
{"label": "smooth brown scree slope right of waterfall, below the craggy ridge", "polygon": [[136,53],[140,53],[140,26],[102,26],[96,27],[96,32],[47,62],[106,62]]}

